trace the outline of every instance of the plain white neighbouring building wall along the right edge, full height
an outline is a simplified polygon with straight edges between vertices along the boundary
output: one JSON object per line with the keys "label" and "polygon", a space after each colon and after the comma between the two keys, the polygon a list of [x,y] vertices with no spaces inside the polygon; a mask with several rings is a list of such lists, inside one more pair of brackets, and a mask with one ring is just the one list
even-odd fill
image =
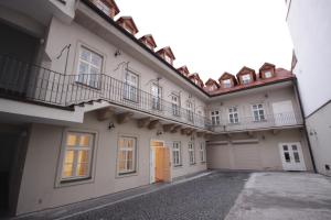
{"label": "plain white neighbouring building wall along the right edge, full height", "polygon": [[293,42],[292,72],[298,77],[305,121],[317,170],[331,175],[331,2],[287,0]]}

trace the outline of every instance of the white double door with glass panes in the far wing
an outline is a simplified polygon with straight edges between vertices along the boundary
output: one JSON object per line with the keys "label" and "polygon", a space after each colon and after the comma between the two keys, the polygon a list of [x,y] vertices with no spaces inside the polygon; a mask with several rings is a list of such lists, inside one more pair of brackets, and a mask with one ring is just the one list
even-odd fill
{"label": "white double door with glass panes in the far wing", "polygon": [[299,142],[280,143],[279,150],[284,170],[307,170]]}

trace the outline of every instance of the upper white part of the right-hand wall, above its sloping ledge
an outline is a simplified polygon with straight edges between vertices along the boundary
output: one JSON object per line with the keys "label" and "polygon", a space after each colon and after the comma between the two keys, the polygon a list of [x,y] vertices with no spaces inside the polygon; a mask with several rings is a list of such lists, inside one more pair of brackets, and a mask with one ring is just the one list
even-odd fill
{"label": "upper white part of the right-hand wall, above its sloping ledge", "polygon": [[287,22],[306,116],[331,99],[331,1],[291,0]]}

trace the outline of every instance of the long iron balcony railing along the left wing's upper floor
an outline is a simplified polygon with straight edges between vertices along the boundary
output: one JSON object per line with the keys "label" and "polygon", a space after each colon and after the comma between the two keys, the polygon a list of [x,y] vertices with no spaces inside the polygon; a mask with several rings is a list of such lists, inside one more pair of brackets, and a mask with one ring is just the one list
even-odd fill
{"label": "long iron balcony railing along the left wing's upper floor", "polygon": [[105,100],[211,130],[210,119],[108,75],[65,75],[8,56],[0,56],[0,95],[58,107]]}

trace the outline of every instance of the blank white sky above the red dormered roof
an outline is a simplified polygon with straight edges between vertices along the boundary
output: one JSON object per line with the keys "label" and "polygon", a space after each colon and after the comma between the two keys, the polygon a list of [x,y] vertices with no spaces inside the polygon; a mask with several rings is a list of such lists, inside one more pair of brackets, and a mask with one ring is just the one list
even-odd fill
{"label": "blank white sky above the red dormered roof", "polygon": [[174,67],[186,65],[206,81],[265,62],[289,69],[292,43],[284,0],[116,0],[140,37],[152,34],[170,46]]}

